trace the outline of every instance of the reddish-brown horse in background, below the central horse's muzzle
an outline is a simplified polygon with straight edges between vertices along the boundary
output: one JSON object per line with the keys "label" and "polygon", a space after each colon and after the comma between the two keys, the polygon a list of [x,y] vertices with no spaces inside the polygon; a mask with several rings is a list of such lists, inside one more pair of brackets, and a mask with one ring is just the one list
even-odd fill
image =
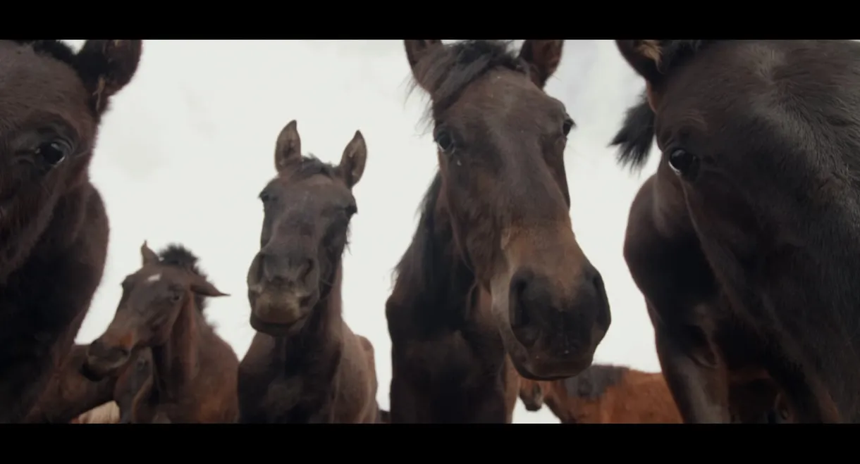
{"label": "reddish-brown horse in background, below the central horse's muzzle", "polygon": [[546,403],[562,424],[680,424],[678,406],[660,372],[592,364],[552,382],[520,379],[525,409]]}

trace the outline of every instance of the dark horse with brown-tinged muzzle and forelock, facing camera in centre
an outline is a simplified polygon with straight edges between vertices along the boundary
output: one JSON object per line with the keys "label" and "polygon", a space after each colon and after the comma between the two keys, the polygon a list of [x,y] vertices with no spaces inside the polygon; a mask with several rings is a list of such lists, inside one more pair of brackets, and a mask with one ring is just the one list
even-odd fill
{"label": "dark horse with brown-tinged muzzle and forelock, facing camera in centre", "polygon": [[[391,420],[509,422],[516,378],[577,374],[610,324],[571,228],[574,127],[544,84],[563,40],[406,40],[432,101],[439,172],[386,302]],[[512,405],[513,406],[513,405]]]}

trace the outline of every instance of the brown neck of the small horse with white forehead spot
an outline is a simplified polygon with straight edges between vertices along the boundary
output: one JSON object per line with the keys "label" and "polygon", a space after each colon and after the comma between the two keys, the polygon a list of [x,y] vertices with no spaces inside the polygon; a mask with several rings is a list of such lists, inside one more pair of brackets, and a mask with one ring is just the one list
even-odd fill
{"label": "brown neck of the small horse with white forehead spot", "polygon": [[152,347],[152,375],[159,394],[175,398],[181,394],[200,369],[199,340],[204,335],[206,321],[187,298],[170,331],[168,342]]}

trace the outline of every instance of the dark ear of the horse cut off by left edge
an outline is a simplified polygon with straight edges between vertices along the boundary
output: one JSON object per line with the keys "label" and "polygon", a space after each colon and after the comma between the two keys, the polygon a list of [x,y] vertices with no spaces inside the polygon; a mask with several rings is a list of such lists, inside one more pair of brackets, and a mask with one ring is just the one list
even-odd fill
{"label": "dark ear of the horse cut off by left edge", "polygon": [[89,91],[95,113],[104,113],[110,97],[126,87],[138,70],[142,40],[87,40],[75,68]]}

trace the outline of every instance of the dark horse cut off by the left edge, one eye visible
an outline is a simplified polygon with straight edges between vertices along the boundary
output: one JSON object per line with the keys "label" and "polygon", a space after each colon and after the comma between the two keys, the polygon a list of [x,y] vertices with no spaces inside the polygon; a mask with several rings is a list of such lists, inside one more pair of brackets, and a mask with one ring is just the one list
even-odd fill
{"label": "dark horse cut off by the left edge, one eye visible", "polygon": [[140,40],[0,40],[0,423],[19,422],[101,281],[107,215],[89,160]]}

